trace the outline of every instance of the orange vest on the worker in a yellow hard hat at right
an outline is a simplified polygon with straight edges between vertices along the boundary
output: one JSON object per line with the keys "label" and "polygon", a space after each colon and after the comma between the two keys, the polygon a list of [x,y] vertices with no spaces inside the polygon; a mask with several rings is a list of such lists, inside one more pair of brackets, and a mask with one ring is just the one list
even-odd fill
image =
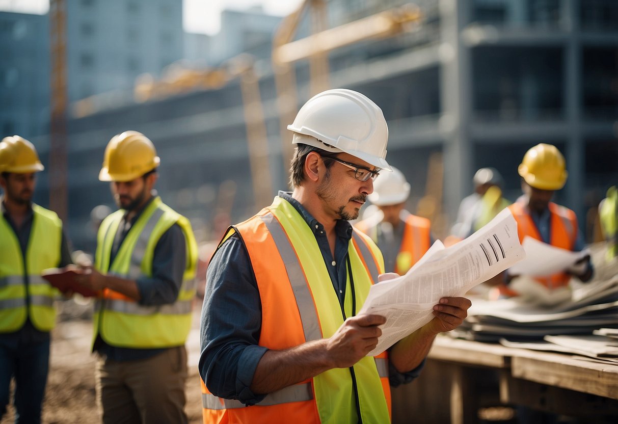
{"label": "orange vest on the worker in a yellow hard hat at right", "polygon": [[[548,207],[549,213],[551,213],[551,217],[549,218],[551,240],[549,244],[563,249],[573,250],[575,247],[575,240],[577,240],[577,216],[575,216],[575,212],[552,202],[549,202]],[[543,241],[540,232],[530,216],[530,210],[526,205],[521,202],[515,202],[509,206],[509,209],[513,213],[515,221],[517,221],[517,234],[519,235],[520,243],[523,243],[523,239],[526,236]],[[549,289],[556,289],[557,287],[567,286],[570,278],[570,275],[567,273],[557,273],[547,277],[538,277],[536,280]],[[516,292],[510,290],[506,286],[499,288],[501,294],[509,296],[517,295]]]}

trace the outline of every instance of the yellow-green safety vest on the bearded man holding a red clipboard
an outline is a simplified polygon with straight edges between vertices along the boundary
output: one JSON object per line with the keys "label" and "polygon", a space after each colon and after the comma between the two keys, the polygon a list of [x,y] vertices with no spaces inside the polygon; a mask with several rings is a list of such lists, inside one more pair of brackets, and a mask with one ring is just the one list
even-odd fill
{"label": "yellow-green safety vest on the bearded man holding a red clipboard", "polygon": [[95,268],[101,273],[137,279],[152,276],[152,260],[161,235],[179,224],[187,247],[184,281],[176,302],[160,306],[142,306],[135,300],[111,289],[105,289],[95,305],[95,334],[111,346],[132,349],[154,349],[182,346],[191,327],[192,303],[195,296],[197,243],[187,218],[154,198],[131,227],[116,257],[109,263],[112,245],[124,211],[104,219],[99,227]]}

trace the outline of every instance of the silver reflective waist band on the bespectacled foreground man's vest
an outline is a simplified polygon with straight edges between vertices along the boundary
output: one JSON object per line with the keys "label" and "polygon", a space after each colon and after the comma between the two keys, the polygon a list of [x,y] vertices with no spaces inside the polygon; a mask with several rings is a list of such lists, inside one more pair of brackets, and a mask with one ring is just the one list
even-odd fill
{"label": "silver reflective waist band on the bespectacled foreground man's vest", "polygon": [[[388,360],[386,358],[374,359],[376,362],[376,368],[378,368],[378,375],[381,378],[388,378]],[[300,383],[269,393],[256,405],[278,405],[289,402],[311,401],[311,399],[313,399],[311,383]],[[203,408],[216,410],[247,407],[247,405],[235,399],[222,399],[221,397],[214,396],[211,393],[201,394],[201,405]]]}

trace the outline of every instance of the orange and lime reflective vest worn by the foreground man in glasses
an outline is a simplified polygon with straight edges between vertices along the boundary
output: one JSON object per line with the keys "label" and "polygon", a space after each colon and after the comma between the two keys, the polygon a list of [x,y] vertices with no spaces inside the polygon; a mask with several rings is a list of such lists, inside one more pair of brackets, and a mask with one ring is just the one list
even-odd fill
{"label": "orange and lime reflective vest worn by the foreground man in glasses", "polygon": [[[321,290],[316,277],[328,270],[315,236],[302,217],[286,200],[276,197],[244,223],[231,227],[247,248],[260,291],[261,331],[259,345],[288,349],[305,342],[330,337],[334,326],[343,323],[341,307],[332,287]],[[219,244],[219,246],[221,246]],[[378,280],[383,264],[378,248],[359,231],[353,231],[349,247],[350,264],[360,307],[371,282]],[[320,255],[319,260],[315,256]],[[328,284],[329,280],[317,281]],[[350,281],[348,281],[350,288]],[[326,297],[325,297],[326,295]],[[349,310],[350,290],[345,304]],[[321,302],[316,302],[321,299]],[[324,304],[326,303],[326,304]],[[337,303],[336,307],[333,307]],[[364,422],[387,422],[391,417],[391,392],[387,352],[362,358],[353,367]],[[349,422],[354,408],[352,378],[347,368],[333,368],[320,375],[269,393],[256,405],[222,399],[208,391],[201,381],[204,423],[320,423]]]}

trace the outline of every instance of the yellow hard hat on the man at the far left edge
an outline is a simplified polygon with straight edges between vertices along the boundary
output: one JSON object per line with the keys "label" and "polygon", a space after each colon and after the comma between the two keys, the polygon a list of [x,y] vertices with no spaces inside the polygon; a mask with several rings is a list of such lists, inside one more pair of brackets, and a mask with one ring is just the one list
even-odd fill
{"label": "yellow hard hat on the man at the far left edge", "polygon": [[36,154],[35,146],[25,138],[14,135],[0,142],[0,172],[29,174],[43,171],[45,167]]}

